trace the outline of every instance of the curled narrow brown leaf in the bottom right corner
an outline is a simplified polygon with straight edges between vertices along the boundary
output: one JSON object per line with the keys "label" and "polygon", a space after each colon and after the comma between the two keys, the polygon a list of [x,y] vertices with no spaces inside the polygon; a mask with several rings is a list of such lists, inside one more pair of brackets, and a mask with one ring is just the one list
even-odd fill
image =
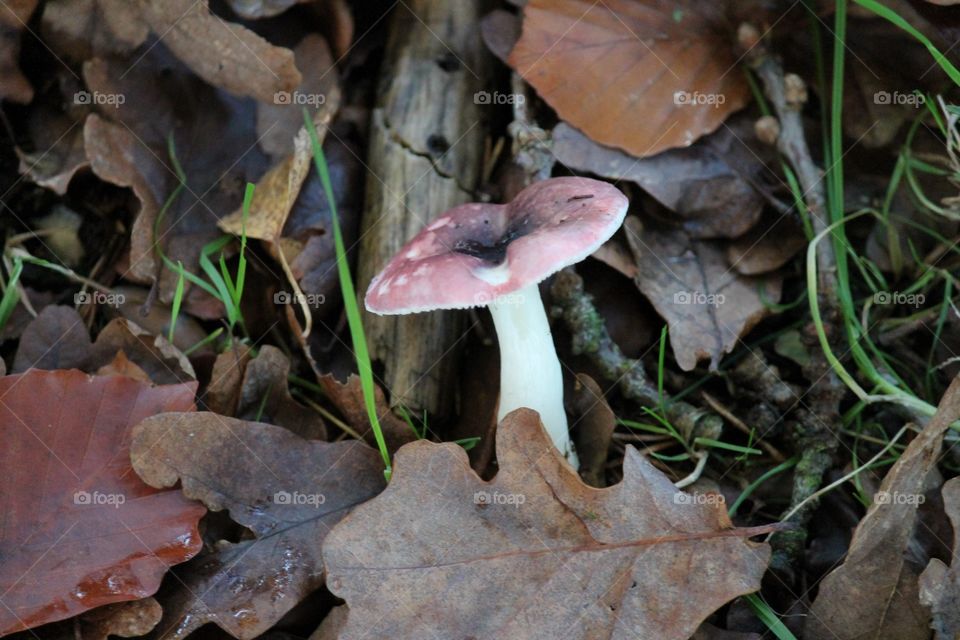
{"label": "curled narrow brown leaf in the bottom right corner", "polygon": [[917,586],[921,567],[905,556],[919,496],[940,458],[943,435],[958,418],[960,378],[955,378],[936,415],[887,472],[873,505],[857,525],[843,564],[820,582],[804,627],[805,638],[930,636],[930,612],[921,606]]}

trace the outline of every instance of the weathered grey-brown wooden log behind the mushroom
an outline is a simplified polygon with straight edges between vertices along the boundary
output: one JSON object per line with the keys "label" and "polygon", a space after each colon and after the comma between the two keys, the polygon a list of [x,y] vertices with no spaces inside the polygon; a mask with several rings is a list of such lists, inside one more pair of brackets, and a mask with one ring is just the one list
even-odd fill
{"label": "weathered grey-brown wooden log behind the mushroom", "polygon": [[[495,108],[476,28],[481,3],[408,0],[394,9],[372,120],[358,289],[432,219],[471,199]],[[442,286],[439,284],[438,286]],[[362,294],[361,294],[362,295]],[[452,407],[460,312],[365,314],[391,404]]]}

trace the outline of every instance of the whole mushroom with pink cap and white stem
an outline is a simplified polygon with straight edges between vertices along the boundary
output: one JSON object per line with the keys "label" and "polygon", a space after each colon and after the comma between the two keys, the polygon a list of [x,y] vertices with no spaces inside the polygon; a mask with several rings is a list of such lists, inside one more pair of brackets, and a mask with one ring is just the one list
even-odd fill
{"label": "whole mushroom with pink cap and white stem", "polygon": [[497,419],[520,407],[536,410],[576,468],[560,361],[537,285],[610,238],[627,204],[606,182],[552,178],[527,187],[509,204],[454,207],[370,282],[367,310],[387,315],[488,307],[500,341]]}

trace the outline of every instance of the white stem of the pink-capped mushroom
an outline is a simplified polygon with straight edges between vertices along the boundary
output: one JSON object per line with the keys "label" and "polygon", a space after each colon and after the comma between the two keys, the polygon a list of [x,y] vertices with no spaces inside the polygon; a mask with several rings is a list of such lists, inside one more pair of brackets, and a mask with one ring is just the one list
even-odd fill
{"label": "white stem of the pink-capped mushroom", "polygon": [[550,335],[550,324],[536,284],[490,303],[500,341],[500,408],[497,421],[520,407],[540,420],[560,453],[578,468],[577,454],[563,410],[563,376]]}

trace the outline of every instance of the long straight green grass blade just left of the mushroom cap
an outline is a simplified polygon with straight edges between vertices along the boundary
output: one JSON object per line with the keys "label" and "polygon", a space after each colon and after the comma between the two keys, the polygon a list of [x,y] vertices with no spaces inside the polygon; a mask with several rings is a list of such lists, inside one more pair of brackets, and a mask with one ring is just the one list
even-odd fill
{"label": "long straight green grass blade just left of the mushroom cap", "polygon": [[376,438],[377,447],[383,457],[385,466],[384,475],[390,479],[392,471],[390,452],[383,439],[383,429],[380,427],[380,417],[377,415],[377,406],[374,396],[373,366],[370,363],[370,353],[367,350],[367,336],[363,331],[363,320],[360,317],[360,307],[357,305],[357,294],[353,288],[353,279],[350,276],[350,265],[347,263],[347,248],[343,243],[343,233],[340,230],[340,218],[337,215],[337,202],[333,195],[333,185],[330,182],[330,173],[327,170],[327,160],[323,155],[320,140],[317,139],[317,130],[306,109],[303,110],[303,120],[310,133],[310,143],[313,148],[313,163],[323,183],[323,190],[327,194],[327,203],[330,206],[330,226],[333,227],[333,244],[337,252],[337,272],[340,276],[340,290],[343,293],[343,306],[347,313],[347,324],[350,327],[350,338],[353,341],[353,351],[357,359],[357,370],[360,373],[360,388],[363,391],[363,403],[370,419],[370,427]]}

